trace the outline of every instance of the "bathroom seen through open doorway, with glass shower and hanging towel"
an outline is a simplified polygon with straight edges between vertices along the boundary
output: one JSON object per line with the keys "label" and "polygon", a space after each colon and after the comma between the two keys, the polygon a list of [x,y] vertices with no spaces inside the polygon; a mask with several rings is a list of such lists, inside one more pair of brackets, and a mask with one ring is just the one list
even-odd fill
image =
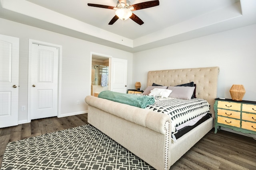
{"label": "bathroom seen through open doorway, with glass shower and hanging towel", "polygon": [[98,96],[102,91],[109,90],[110,57],[92,54],[91,95]]}

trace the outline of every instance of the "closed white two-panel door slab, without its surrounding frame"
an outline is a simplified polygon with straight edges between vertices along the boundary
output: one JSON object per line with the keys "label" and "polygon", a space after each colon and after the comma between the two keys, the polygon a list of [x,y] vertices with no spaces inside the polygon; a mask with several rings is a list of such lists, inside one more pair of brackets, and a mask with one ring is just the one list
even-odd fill
{"label": "closed white two-panel door slab, without its surrounding frame", "polygon": [[57,116],[58,57],[56,47],[32,44],[30,118]]}

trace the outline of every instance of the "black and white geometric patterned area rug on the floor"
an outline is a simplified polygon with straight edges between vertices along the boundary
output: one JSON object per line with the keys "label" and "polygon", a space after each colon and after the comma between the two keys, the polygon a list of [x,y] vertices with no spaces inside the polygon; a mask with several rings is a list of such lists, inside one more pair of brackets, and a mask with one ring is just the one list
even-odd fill
{"label": "black and white geometric patterned area rug on the floor", "polygon": [[1,170],[154,168],[92,125],[83,125],[8,143]]}

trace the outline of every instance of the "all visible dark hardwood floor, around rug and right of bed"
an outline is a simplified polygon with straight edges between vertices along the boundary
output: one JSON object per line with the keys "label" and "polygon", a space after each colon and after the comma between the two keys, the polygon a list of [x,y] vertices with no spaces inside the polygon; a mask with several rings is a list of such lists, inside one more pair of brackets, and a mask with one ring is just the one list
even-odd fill
{"label": "all visible dark hardwood floor, around rug and right of bed", "polygon": [[[7,143],[87,124],[87,114],[32,120],[0,128],[0,167]],[[256,170],[256,140],[214,130],[182,156],[171,170]]]}

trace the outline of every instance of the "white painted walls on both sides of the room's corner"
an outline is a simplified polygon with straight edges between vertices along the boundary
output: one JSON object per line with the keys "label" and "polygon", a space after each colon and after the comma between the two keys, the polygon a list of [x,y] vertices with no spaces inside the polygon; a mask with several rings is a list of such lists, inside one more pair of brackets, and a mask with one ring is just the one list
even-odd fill
{"label": "white painted walls on both sides of the room's corner", "polygon": [[232,84],[243,84],[243,100],[256,101],[256,25],[134,54],[2,18],[0,25],[0,34],[20,38],[19,122],[27,121],[27,111],[20,107],[27,108],[28,100],[28,39],[62,45],[62,115],[87,110],[84,97],[90,95],[91,52],[127,59],[128,89],[134,89],[135,82],[145,89],[149,70],[219,66],[218,97],[230,98]]}

